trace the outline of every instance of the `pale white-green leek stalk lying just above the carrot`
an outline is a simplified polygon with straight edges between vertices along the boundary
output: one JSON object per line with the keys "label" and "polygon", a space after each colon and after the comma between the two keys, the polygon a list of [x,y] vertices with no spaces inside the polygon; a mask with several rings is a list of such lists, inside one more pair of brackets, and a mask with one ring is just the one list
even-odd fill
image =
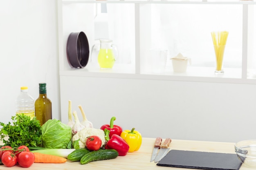
{"label": "pale white-green leek stalk lying just above the carrot", "polygon": [[40,150],[31,150],[30,152],[38,152],[48,155],[55,155],[63,158],[67,158],[67,155],[69,155],[71,152],[73,152],[75,149],[40,149]]}

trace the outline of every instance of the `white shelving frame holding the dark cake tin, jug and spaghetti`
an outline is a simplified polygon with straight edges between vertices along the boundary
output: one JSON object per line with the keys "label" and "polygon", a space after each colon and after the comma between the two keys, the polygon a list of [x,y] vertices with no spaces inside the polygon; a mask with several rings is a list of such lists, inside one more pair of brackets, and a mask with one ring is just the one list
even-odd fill
{"label": "white shelving frame holding the dark cake tin, jug and spaghetti", "polygon": [[[135,61],[131,64],[116,63],[112,69],[100,69],[95,63],[88,63],[85,68],[72,68],[67,60],[66,55],[66,41],[69,33],[73,30],[80,29],[92,23],[81,21],[82,24],[77,28],[79,21],[72,21],[74,24],[67,23],[67,16],[69,13],[63,11],[63,7],[76,8],[80,5],[88,5],[92,7],[93,4],[134,4],[135,15]],[[174,73],[171,66],[166,67],[166,72],[158,74],[150,72],[150,69],[146,68],[145,62],[145,47],[142,45],[142,40],[147,34],[144,31],[146,21],[141,20],[142,7],[147,4],[234,4],[241,5],[243,8],[243,33],[242,33],[242,66],[241,68],[225,68],[224,75],[215,75],[213,67],[196,67],[189,66],[186,73]],[[60,75],[61,76],[82,76],[82,77],[110,77],[110,78],[128,78],[128,79],[155,79],[155,80],[173,80],[173,81],[196,81],[196,82],[219,82],[219,83],[238,83],[238,84],[256,84],[254,75],[249,76],[247,69],[247,55],[248,55],[248,6],[256,4],[255,1],[249,0],[233,0],[233,1],[213,1],[213,0],[58,0],[58,32],[59,32],[59,63],[60,63]],[[81,10],[81,9],[79,9]],[[86,14],[84,11],[81,15]],[[146,14],[145,14],[146,15]],[[88,18],[88,17],[85,17]],[[77,22],[77,23],[75,23]],[[79,23],[80,24],[80,23]],[[90,41],[89,41],[90,43]],[[90,44],[92,46],[92,44]]]}

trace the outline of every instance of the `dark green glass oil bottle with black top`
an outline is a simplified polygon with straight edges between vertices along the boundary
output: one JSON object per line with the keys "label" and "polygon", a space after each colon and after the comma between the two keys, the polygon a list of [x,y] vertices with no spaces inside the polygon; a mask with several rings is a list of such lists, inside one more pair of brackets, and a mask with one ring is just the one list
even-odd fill
{"label": "dark green glass oil bottle with black top", "polygon": [[35,101],[35,116],[41,126],[52,119],[52,102],[47,98],[46,83],[39,83],[39,97]]}

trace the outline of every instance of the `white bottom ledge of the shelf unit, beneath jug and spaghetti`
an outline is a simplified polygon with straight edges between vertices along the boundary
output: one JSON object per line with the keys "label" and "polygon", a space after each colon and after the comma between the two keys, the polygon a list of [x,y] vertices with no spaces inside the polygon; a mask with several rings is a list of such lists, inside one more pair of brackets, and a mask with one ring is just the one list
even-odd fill
{"label": "white bottom ledge of the shelf unit, beneath jug and spaghetti", "polygon": [[101,69],[96,64],[88,63],[84,68],[69,68],[60,71],[61,76],[81,76],[81,77],[108,77],[108,78],[128,78],[128,79],[153,79],[170,81],[189,82],[217,82],[236,84],[256,84],[256,79],[242,78],[241,68],[225,68],[223,75],[214,74],[213,67],[188,66],[185,73],[175,73],[169,66],[164,73],[152,73],[144,71],[135,73],[135,66],[131,64],[115,64],[113,68]]}

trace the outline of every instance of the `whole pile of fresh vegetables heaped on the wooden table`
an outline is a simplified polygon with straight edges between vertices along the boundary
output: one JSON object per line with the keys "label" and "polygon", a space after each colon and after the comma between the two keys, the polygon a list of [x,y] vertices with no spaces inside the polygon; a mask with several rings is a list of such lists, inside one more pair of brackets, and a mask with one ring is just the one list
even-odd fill
{"label": "whole pile of fresh vegetables heaped on the wooden table", "polygon": [[142,137],[135,128],[123,131],[121,126],[114,125],[116,117],[110,119],[110,124],[94,128],[82,106],[78,107],[83,117],[81,122],[76,111],[72,112],[70,100],[67,124],[50,119],[40,126],[36,117],[30,119],[24,114],[11,117],[12,124],[0,122],[0,140],[4,143],[0,148],[2,164],[30,167],[33,163],[65,163],[67,160],[87,164],[139,150]]}

